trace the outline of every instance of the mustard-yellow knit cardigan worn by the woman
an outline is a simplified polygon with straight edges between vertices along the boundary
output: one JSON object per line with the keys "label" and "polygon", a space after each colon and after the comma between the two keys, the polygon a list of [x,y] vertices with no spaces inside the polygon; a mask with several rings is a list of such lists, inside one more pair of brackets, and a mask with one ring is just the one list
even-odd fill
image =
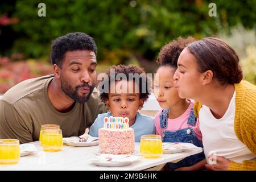
{"label": "mustard-yellow knit cardigan worn by the woman", "polygon": [[[236,90],[236,114],[234,131],[237,138],[245,144],[256,157],[256,86],[247,81],[234,84]],[[201,108],[195,102],[194,112],[199,116]],[[199,118],[200,119],[200,118]],[[230,162],[228,170],[256,170],[256,160],[244,160],[241,163]]]}

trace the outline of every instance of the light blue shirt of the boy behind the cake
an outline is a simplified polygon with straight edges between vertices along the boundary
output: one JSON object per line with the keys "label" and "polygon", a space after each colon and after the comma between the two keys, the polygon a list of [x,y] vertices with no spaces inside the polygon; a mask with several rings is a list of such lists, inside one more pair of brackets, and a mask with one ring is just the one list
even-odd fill
{"label": "light blue shirt of the boy behind the cake", "polygon": [[[89,135],[98,137],[98,129],[104,126],[103,119],[105,117],[110,117],[111,115],[111,112],[98,114],[98,117],[89,129]],[[141,135],[155,134],[155,123],[153,118],[138,112],[134,124],[130,127],[134,129],[135,142],[141,141]]]}

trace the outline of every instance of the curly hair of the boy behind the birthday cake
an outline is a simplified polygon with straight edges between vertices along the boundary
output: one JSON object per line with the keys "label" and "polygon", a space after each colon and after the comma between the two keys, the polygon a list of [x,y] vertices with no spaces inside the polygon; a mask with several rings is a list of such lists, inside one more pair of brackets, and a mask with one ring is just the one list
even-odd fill
{"label": "curly hair of the boy behind the birthday cake", "polygon": [[[138,80],[136,80],[134,78],[133,78],[133,80],[135,81],[135,83],[137,83],[139,85],[139,98],[140,99],[142,98],[144,101],[147,101],[147,98],[151,93],[151,89],[150,89],[151,82],[148,79],[146,72],[144,71],[143,68],[138,67],[136,65],[121,65],[121,64],[113,65],[113,66],[109,67],[109,69],[107,69],[105,71],[106,75],[108,76],[108,79],[102,80],[102,85],[109,84],[109,87],[110,87],[110,84],[112,84],[111,81],[113,81],[112,79],[110,79],[110,69],[114,69],[115,77],[117,76],[118,73],[123,73],[126,76],[127,81],[129,80],[129,73],[138,74],[140,76],[139,82],[138,82]],[[114,81],[119,81],[119,80],[115,80],[115,77],[114,77]],[[146,84],[146,93],[142,93],[142,81],[143,80],[146,80],[146,83],[143,83],[143,84]],[[102,102],[105,102],[106,100],[109,99],[109,93],[104,92],[104,86],[103,86],[102,90],[100,89],[100,98],[101,98]]]}

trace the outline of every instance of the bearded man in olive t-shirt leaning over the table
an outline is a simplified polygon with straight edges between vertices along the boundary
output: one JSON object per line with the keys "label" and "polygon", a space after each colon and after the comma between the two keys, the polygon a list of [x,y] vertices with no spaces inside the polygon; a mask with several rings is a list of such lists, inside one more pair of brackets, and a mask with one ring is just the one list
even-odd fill
{"label": "bearded man in olive t-shirt leaning over the table", "polygon": [[25,80],[0,100],[0,139],[39,140],[40,126],[57,124],[63,137],[84,134],[106,107],[94,89],[97,47],[75,32],[53,41],[53,75]]}

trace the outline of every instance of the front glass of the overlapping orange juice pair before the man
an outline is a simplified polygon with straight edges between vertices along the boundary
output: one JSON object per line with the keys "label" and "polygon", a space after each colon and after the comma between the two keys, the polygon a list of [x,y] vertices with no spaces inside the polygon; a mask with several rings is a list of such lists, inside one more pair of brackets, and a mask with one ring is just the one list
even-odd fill
{"label": "front glass of the overlapping orange juice pair before the man", "polygon": [[60,129],[43,130],[42,146],[44,151],[60,151],[63,146],[62,131]]}

